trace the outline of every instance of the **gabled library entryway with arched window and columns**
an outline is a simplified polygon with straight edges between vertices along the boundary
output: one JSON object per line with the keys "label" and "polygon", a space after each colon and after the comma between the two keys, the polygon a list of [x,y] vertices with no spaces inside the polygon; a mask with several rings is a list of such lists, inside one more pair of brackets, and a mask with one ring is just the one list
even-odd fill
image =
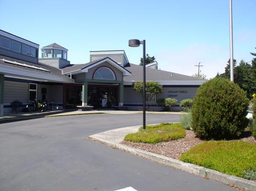
{"label": "gabled library entryway with arched window and columns", "polygon": [[[75,95],[71,92],[67,93],[66,90],[66,103],[70,106],[78,106],[78,103],[81,103],[79,107],[84,108],[123,106],[123,76],[131,73],[109,57],[87,64],[75,64],[67,69],[64,68],[63,73],[75,79],[75,83],[82,85],[81,94],[80,89],[73,90]],[[75,98],[68,101],[67,96]],[[78,101],[79,96],[81,102]]]}

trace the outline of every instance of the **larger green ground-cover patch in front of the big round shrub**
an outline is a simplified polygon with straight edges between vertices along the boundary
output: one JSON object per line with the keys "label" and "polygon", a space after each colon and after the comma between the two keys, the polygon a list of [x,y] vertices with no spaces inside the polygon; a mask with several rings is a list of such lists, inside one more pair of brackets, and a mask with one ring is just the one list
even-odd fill
{"label": "larger green ground-cover patch in front of the big round shrub", "polygon": [[182,154],[180,160],[250,179],[248,173],[255,176],[256,144],[245,141],[207,141]]}

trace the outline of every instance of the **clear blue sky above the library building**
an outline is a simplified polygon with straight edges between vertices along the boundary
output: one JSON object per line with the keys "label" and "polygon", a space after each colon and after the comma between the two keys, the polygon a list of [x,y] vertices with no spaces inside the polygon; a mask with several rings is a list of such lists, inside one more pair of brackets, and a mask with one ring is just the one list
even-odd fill
{"label": "clear blue sky above the library building", "polygon": [[[145,39],[160,69],[180,74],[196,73],[201,62],[211,78],[229,59],[229,0],[0,0],[0,7],[0,29],[40,48],[56,42],[72,64],[89,62],[97,50],[125,50],[137,64],[142,47],[129,47],[129,39]],[[233,0],[238,62],[256,52],[255,9],[256,0]]]}

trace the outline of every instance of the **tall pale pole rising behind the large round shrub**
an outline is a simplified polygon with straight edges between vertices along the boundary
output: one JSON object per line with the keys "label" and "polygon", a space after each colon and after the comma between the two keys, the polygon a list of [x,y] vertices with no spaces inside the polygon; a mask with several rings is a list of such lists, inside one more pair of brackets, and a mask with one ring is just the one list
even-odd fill
{"label": "tall pale pole rising behind the large round shrub", "polygon": [[234,82],[232,0],[229,0],[229,35],[230,35],[230,81]]}

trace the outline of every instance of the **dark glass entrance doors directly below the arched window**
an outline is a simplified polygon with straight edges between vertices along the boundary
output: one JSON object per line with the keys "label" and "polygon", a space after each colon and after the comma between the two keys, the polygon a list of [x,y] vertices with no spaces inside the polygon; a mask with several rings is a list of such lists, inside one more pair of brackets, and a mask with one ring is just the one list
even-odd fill
{"label": "dark glass entrance doors directly below the arched window", "polygon": [[94,108],[118,106],[117,87],[114,85],[88,85],[88,105]]}

